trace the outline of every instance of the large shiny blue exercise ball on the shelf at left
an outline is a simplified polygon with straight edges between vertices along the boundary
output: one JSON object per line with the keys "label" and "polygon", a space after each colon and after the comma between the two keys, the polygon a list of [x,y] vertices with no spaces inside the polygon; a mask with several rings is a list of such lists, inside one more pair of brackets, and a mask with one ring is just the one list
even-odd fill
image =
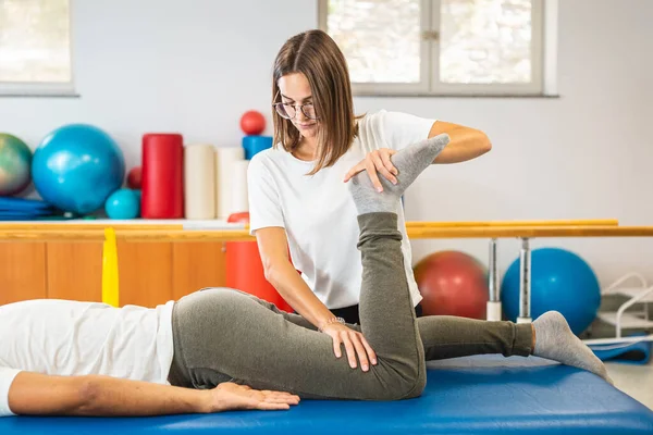
{"label": "large shiny blue exercise ball on the shelf at left", "polygon": [[45,201],[62,211],[93,213],[122,186],[124,156],[102,129],[65,125],[47,135],[34,151],[32,177]]}

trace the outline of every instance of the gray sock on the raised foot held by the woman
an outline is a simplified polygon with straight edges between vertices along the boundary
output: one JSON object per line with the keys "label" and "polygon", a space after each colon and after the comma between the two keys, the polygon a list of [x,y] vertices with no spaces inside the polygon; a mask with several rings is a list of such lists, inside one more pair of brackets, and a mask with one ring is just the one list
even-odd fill
{"label": "gray sock on the raised foot held by the woman", "polygon": [[433,163],[433,160],[448,142],[448,135],[442,134],[409,145],[394,154],[391,161],[398,171],[398,175],[396,175],[398,183],[393,185],[385,177],[379,175],[379,179],[383,185],[382,192],[379,192],[374,188],[367,172],[360,172],[352,177],[349,181],[349,191],[354,197],[358,214],[372,212],[394,213],[397,202],[406,188],[412,184],[423,170]]}

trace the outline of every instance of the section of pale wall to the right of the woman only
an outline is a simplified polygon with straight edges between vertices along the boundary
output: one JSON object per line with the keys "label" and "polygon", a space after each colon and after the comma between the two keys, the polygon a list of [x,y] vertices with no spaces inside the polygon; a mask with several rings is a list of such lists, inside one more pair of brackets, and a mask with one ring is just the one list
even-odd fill
{"label": "section of pale wall to the right of the woman only", "polygon": [[[653,2],[560,0],[559,99],[361,101],[359,108],[440,116],[485,130],[494,148],[472,162],[431,171],[407,197],[407,219],[615,217],[653,224]],[[365,104],[365,107],[364,107]],[[418,202],[420,201],[420,202]],[[629,270],[653,276],[653,239],[540,239],[583,256],[603,282]],[[486,240],[414,243],[486,258]],[[505,270],[518,240],[500,241]]]}

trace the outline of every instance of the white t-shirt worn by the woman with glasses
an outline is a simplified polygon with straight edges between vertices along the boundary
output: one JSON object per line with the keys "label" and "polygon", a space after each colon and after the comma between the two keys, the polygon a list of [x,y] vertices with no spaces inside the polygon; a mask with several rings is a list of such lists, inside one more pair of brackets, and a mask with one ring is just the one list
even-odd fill
{"label": "white t-shirt worn by the woman with glasses", "polygon": [[[301,161],[283,148],[257,153],[249,162],[250,234],[270,226],[285,228],[294,266],[329,309],[357,304],[362,265],[358,221],[345,174],[372,150],[399,150],[426,139],[435,120],[379,111],[359,120],[350,149],[331,167],[306,175],[315,162]],[[382,175],[380,175],[382,176]],[[421,295],[412,274],[404,210],[397,201],[402,250],[412,302]]]}

